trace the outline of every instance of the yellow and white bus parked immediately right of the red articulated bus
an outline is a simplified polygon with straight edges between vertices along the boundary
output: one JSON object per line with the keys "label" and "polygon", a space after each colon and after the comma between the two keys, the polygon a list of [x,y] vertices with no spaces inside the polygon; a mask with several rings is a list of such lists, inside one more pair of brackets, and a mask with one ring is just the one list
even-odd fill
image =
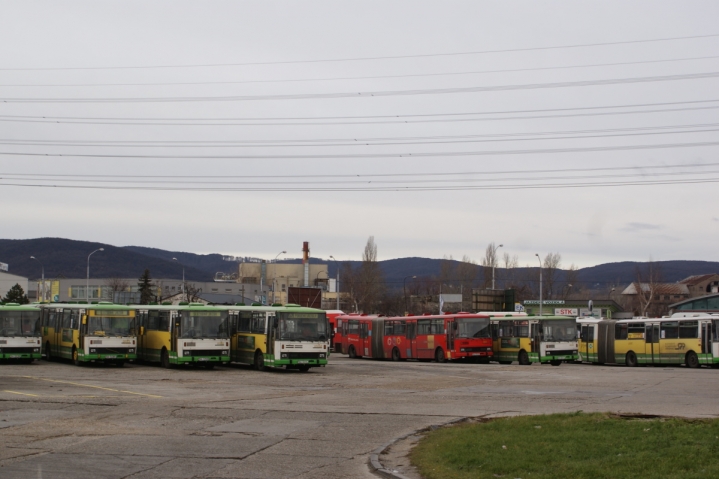
{"label": "yellow and white bus parked immediately right of the red articulated bus", "polygon": [[492,339],[500,364],[559,366],[577,359],[577,322],[567,316],[493,317]]}

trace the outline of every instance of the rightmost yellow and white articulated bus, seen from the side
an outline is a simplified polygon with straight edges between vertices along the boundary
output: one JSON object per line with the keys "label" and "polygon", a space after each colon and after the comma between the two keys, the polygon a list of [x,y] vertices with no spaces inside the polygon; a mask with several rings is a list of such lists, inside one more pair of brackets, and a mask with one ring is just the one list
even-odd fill
{"label": "rightmost yellow and white articulated bus, seen from the side", "polygon": [[[667,318],[603,320],[592,341],[600,364],[719,363],[719,316],[676,313]],[[589,328],[587,328],[589,334]],[[589,337],[587,337],[589,342]]]}

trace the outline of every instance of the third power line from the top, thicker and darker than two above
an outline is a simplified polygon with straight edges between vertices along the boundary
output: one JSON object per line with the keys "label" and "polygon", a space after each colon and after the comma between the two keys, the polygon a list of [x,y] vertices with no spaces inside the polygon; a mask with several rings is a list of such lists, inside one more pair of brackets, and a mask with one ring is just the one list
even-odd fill
{"label": "third power line from the top, thicker and darker than two above", "polygon": [[650,77],[609,78],[605,80],[581,80],[570,82],[529,83],[517,85],[492,85],[459,88],[429,88],[415,90],[385,90],[370,92],[337,93],[299,93],[283,95],[244,95],[244,96],[195,96],[195,97],[117,97],[117,98],[0,98],[2,103],[178,103],[178,102],[231,102],[266,100],[312,100],[341,98],[373,98],[390,96],[446,95],[458,93],[482,93],[496,91],[537,90],[570,88],[585,86],[605,86],[633,83],[652,83],[680,80],[700,80],[719,77],[719,72],[689,73],[682,75],[663,75]]}

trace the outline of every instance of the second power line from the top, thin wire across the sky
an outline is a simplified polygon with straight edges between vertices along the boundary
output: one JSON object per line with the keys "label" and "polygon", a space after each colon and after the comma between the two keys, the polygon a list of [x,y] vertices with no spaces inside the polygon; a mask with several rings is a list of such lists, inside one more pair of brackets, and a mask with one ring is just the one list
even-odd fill
{"label": "second power line from the top, thin wire across the sky", "polygon": [[403,75],[372,75],[372,76],[354,76],[354,77],[325,77],[325,78],[294,78],[281,80],[237,80],[237,81],[197,81],[197,82],[141,82],[141,83],[37,83],[37,84],[0,84],[0,87],[115,87],[115,86],[183,86],[183,85],[244,85],[255,83],[304,83],[304,82],[323,82],[323,81],[348,81],[348,80],[383,80],[393,78],[425,78],[439,76],[463,76],[463,75],[482,75],[487,73],[517,73],[529,71],[551,71],[551,70],[568,70],[574,68],[597,68],[625,65],[645,65],[653,63],[671,63],[696,60],[711,60],[719,58],[719,55],[709,55],[702,57],[686,57],[686,58],[669,58],[664,60],[639,60],[632,62],[613,62],[613,63],[590,63],[584,65],[558,65],[551,67],[534,67],[534,68],[509,68],[502,70],[475,70],[466,72],[444,72],[444,73],[415,73]]}

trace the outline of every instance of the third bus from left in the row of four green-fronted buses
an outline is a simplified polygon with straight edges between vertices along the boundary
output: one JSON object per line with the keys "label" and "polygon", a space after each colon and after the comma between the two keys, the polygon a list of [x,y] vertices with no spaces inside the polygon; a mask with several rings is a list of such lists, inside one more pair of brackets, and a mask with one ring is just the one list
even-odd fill
{"label": "third bus from left in the row of four green-fronted buses", "polygon": [[228,311],[201,303],[133,306],[139,325],[137,357],[164,368],[230,361]]}

